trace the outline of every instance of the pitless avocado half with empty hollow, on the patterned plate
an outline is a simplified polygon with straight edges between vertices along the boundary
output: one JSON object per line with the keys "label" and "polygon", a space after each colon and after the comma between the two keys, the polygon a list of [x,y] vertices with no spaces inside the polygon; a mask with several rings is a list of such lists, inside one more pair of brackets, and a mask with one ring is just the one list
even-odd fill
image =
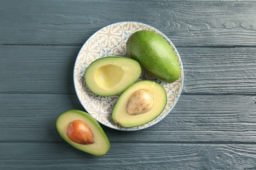
{"label": "pitless avocado half with empty hollow, on the patterned plate", "polygon": [[141,75],[139,63],[132,58],[109,56],[93,61],[84,73],[88,88],[97,95],[123,92]]}

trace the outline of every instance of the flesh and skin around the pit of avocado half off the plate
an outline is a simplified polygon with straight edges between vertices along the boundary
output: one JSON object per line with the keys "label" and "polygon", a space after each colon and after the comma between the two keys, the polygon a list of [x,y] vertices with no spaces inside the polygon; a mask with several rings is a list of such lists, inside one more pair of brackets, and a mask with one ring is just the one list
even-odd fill
{"label": "flesh and skin around the pit of avocado half off the plate", "polygon": [[[67,126],[73,120],[81,120],[88,127],[90,127],[90,130],[94,136],[94,143],[78,144],[74,143],[67,137]],[[67,110],[66,112],[60,114],[58,117],[56,121],[56,127],[58,133],[60,133],[60,136],[74,148],[96,156],[103,156],[109,151],[110,143],[107,135],[105,135],[105,132],[103,131],[100,124],[86,112],[81,110]]]}

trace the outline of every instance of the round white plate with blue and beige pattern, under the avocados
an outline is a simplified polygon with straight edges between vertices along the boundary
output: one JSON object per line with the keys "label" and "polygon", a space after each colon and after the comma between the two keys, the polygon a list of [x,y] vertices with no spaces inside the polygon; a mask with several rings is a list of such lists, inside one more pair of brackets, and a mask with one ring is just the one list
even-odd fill
{"label": "round white plate with blue and beige pattern, under the avocados", "polygon": [[[84,73],[90,63],[98,58],[107,56],[125,56],[126,41],[128,37],[132,35],[132,33],[142,29],[154,31],[162,35],[162,37],[168,41],[179,61],[181,76],[179,77],[179,80],[175,81],[174,83],[166,84],[154,76],[143,72],[139,80],[153,80],[164,87],[168,96],[167,105],[164,111],[157,118],[155,118],[155,120],[152,120],[147,124],[136,127],[122,127],[119,124],[115,124],[111,118],[111,112],[115,103],[117,102],[117,99],[119,98],[119,95],[102,97],[92,93],[84,82]],[[84,43],[75,61],[73,80],[75,85],[75,92],[77,93],[79,101],[81,102],[84,109],[98,122],[113,129],[122,131],[135,131],[139,129],[145,129],[157,124],[174,108],[183,88],[183,65],[174,44],[170,41],[170,39],[168,39],[168,37],[166,37],[166,35],[158,31],[158,29],[139,22],[119,22],[101,28]]]}

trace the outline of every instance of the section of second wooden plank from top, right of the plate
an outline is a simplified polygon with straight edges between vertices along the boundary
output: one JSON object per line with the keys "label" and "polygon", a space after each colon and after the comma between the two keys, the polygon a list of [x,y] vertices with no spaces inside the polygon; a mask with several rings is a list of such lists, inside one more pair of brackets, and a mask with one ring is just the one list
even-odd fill
{"label": "section of second wooden plank from top, right of the plate", "polygon": [[185,71],[185,93],[256,92],[253,48],[178,48]]}

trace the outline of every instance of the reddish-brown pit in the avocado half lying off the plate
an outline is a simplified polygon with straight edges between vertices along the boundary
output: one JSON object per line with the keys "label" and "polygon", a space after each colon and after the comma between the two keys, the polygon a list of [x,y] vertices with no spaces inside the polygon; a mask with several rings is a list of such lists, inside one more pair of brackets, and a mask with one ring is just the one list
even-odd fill
{"label": "reddish-brown pit in the avocado half lying off the plate", "polygon": [[94,143],[94,135],[90,127],[81,120],[73,120],[67,126],[67,137],[78,144]]}

